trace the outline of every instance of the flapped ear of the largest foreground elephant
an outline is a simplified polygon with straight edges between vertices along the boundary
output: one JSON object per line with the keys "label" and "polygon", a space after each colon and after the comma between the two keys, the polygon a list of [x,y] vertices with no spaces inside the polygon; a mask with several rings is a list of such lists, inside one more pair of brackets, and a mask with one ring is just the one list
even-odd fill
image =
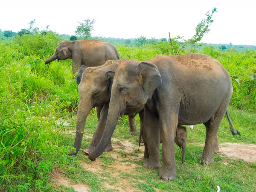
{"label": "flapped ear of the largest foreground elephant", "polygon": [[149,62],[142,62],[139,64],[140,75],[139,82],[143,85],[143,89],[150,99],[157,87],[162,83],[161,75],[155,66]]}

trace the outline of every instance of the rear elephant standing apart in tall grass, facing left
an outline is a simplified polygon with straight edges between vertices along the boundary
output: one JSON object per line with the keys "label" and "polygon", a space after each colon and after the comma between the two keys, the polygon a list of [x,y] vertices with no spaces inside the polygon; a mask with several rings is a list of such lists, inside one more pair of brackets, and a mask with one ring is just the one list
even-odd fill
{"label": "rear elephant standing apart in tall grass, facing left", "polygon": [[88,39],[77,41],[61,41],[54,54],[44,63],[48,64],[56,59],[73,59],[72,74],[76,73],[81,65],[96,67],[105,64],[108,60],[120,59],[116,48],[105,41]]}

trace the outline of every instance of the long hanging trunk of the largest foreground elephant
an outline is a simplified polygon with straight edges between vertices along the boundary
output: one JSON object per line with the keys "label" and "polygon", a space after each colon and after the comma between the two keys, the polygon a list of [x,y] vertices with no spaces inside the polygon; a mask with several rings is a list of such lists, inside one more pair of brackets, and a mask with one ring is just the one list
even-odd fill
{"label": "long hanging trunk of the largest foreground elephant", "polygon": [[119,104],[117,104],[117,102],[119,102],[118,99],[114,99],[113,97],[111,97],[105,130],[99,144],[89,154],[89,159],[91,161],[95,161],[95,159],[103,153],[103,151],[105,150],[105,148],[111,140],[112,134],[116,128],[118,118],[120,116],[121,111],[123,110],[122,107],[120,107]]}

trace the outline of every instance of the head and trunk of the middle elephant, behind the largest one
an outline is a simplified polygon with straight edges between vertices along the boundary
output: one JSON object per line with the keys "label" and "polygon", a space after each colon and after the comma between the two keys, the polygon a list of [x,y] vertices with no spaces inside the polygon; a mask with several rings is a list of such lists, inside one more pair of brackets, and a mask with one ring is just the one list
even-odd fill
{"label": "head and trunk of the middle elephant, behind the largest one", "polygon": [[70,155],[75,155],[79,151],[88,113],[92,108],[104,105],[110,99],[112,79],[107,76],[104,67],[115,71],[119,62],[114,61],[113,63],[112,61],[113,64],[110,63],[111,60],[100,67],[84,66],[79,70],[81,72],[79,73],[79,78],[81,77],[81,79],[77,81],[79,84],[79,105],[76,119],[76,139],[73,145],[76,148],[76,152],[70,150]]}

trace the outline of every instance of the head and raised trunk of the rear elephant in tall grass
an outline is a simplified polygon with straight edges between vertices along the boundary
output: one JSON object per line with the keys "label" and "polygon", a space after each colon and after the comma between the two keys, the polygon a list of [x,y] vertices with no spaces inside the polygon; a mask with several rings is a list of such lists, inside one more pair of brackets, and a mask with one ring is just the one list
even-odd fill
{"label": "head and raised trunk of the rear elephant in tall grass", "polygon": [[75,41],[61,41],[61,43],[58,44],[54,54],[49,59],[44,61],[44,64],[48,64],[56,59],[58,59],[58,61],[68,58],[72,59],[72,49],[74,43]]}

